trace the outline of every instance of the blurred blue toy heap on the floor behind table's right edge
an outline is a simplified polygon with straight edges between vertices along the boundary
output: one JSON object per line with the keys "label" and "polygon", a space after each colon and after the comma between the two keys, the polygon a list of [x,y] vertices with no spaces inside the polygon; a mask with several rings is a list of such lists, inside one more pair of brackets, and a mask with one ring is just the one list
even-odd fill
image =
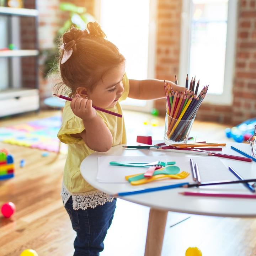
{"label": "blurred blue toy heap on the floor behind table's right edge", "polygon": [[243,142],[248,140],[254,134],[254,126],[256,125],[256,118],[248,119],[237,126],[226,128],[226,137],[233,138],[235,142]]}

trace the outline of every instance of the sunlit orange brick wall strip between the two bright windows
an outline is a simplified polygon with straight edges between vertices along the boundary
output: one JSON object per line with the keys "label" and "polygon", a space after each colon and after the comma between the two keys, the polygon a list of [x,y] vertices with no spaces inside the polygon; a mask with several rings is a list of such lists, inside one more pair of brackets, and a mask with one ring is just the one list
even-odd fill
{"label": "sunlit orange brick wall strip between the two bright windows", "polygon": [[[180,55],[180,0],[158,1],[158,32],[156,39],[156,79],[174,81],[178,74]],[[165,116],[165,99],[156,100],[154,107]]]}

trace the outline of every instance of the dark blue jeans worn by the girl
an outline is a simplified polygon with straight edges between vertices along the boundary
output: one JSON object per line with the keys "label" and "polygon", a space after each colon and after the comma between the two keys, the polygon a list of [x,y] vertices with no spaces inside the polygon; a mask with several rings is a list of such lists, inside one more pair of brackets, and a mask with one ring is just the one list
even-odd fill
{"label": "dark blue jeans worn by the girl", "polygon": [[113,202],[97,205],[86,210],[74,210],[72,197],[65,204],[73,229],[76,231],[74,256],[99,256],[104,249],[103,240],[111,225],[116,209],[116,198]]}

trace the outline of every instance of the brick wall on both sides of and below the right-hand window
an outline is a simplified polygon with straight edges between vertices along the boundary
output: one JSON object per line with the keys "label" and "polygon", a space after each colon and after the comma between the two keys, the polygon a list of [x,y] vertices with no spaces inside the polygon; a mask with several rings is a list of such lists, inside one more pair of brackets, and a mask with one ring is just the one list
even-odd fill
{"label": "brick wall on both sides of and below the right-hand window", "polygon": [[[178,74],[180,0],[159,0],[156,78]],[[169,32],[166,32],[169,31]],[[237,125],[256,117],[256,1],[238,0],[238,27],[232,106],[202,103],[196,119]],[[155,101],[164,115],[165,100]]]}

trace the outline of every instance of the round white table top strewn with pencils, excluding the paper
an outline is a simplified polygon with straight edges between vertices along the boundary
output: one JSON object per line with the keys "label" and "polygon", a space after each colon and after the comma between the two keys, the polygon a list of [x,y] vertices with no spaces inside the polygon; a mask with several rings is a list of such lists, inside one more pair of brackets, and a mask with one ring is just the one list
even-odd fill
{"label": "round white table top strewn with pencils, excluding the paper", "polygon": [[[220,142],[219,142],[220,143]],[[222,142],[223,143],[223,142]],[[249,144],[224,142],[226,146],[223,151],[217,151],[219,153],[243,156],[240,153],[232,150],[231,145],[242,151],[251,154]],[[127,192],[133,190],[139,190],[144,188],[143,185],[132,186],[127,183],[100,183],[96,176],[98,172],[98,157],[100,156],[170,156],[170,161],[175,161],[176,156],[185,156],[187,158],[196,159],[197,155],[172,153],[172,152],[156,152],[148,149],[124,149],[124,145],[118,145],[112,147],[106,153],[91,154],[85,158],[81,163],[81,174],[87,182],[89,182],[95,188],[109,193],[115,194],[117,192]],[[213,158],[215,156],[203,156],[207,158]],[[256,162],[244,162],[239,160],[232,160],[226,158],[219,158],[225,166],[232,166],[242,177],[245,179],[256,178]],[[113,160],[114,161],[114,160]],[[227,168],[228,171],[228,168]],[[237,178],[234,176],[234,180]],[[182,182],[182,180],[180,180]],[[159,184],[159,183],[158,183]],[[162,184],[164,186],[166,184]],[[159,186],[159,185],[158,185]],[[161,185],[160,185],[161,186]],[[151,208],[157,208],[162,210],[168,210],[172,212],[212,215],[212,216],[227,216],[227,217],[256,217],[255,199],[251,198],[225,198],[225,197],[203,197],[203,196],[184,196],[179,192],[184,191],[201,191],[211,193],[248,193],[242,184],[232,185],[214,185],[214,186],[202,186],[199,188],[174,188],[169,190],[155,191],[149,193],[134,194],[121,197],[130,202],[149,206]]]}

